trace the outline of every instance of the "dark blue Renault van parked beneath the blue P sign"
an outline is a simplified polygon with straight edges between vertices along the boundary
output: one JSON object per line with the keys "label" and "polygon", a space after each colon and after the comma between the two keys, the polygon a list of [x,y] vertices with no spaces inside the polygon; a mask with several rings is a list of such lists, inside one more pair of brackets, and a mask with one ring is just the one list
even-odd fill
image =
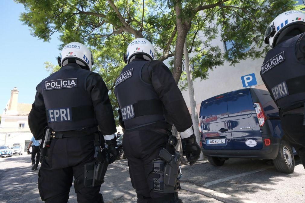
{"label": "dark blue Renault van parked beneath the blue P sign", "polygon": [[203,154],[214,166],[228,158],[271,159],[276,169],[292,173],[293,150],[283,138],[278,107],[270,93],[247,88],[201,103]]}

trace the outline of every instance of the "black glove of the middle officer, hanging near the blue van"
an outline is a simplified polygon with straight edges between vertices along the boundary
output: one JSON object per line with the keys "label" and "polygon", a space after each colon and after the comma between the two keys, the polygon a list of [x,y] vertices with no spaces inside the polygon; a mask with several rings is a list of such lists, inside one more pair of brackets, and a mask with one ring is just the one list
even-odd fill
{"label": "black glove of the middle officer, hanging near the blue van", "polygon": [[182,140],[185,141],[184,151],[186,153],[186,158],[192,166],[199,159],[201,149],[196,142],[196,137],[194,134],[189,138],[184,138]]}

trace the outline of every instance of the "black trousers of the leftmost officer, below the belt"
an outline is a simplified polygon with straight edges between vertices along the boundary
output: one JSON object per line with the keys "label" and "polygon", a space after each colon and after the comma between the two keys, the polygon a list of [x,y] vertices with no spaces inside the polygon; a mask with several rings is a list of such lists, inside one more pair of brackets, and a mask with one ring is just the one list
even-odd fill
{"label": "black trousers of the leftmost officer, below the belt", "polygon": [[74,177],[77,202],[101,202],[101,186],[84,187],[84,164],[95,161],[94,135],[52,139],[38,173],[38,189],[45,202],[67,202]]}

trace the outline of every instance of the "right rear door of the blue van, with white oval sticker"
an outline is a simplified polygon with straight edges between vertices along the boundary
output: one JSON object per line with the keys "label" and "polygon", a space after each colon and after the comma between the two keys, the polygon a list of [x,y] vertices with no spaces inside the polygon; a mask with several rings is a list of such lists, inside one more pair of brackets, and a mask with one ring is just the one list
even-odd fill
{"label": "right rear door of the blue van, with white oval sticker", "polygon": [[250,89],[228,93],[229,128],[235,150],[262,149],[263,139]]}

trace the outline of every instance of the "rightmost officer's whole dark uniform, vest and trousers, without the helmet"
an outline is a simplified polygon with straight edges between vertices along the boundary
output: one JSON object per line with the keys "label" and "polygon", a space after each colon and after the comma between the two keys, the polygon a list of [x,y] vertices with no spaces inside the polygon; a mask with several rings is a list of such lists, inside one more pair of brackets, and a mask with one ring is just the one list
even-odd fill
{"label": "rightmost officer's whole dark uniform, vest and trousers, without the helmet", "polygon": [[285,137],[305,167],[305,33],[277,42],[268,51],[260,75],[280,109]]}

